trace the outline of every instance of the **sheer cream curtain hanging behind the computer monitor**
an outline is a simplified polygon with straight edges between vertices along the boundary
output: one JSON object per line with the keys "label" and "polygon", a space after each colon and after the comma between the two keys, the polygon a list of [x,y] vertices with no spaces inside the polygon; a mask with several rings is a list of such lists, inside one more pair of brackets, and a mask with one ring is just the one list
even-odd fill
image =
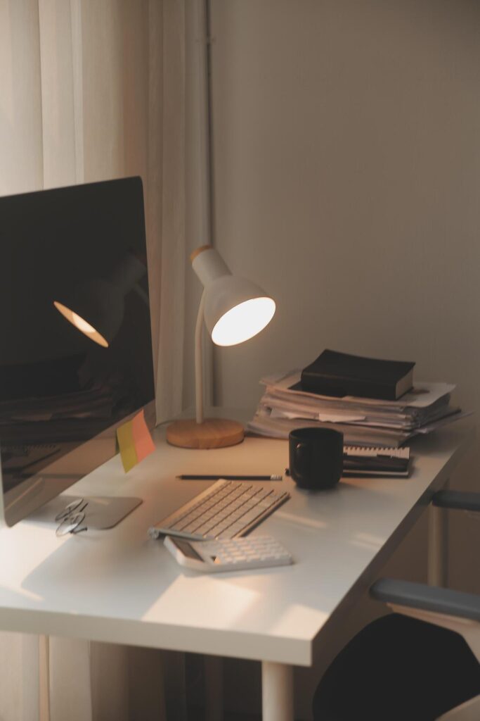
{"label": "sheer cream curtain hanging behind the computer monitor", "polygon": [[[142,177],[158,420],[181,410],[184,16],[184,0],[0,0],[0,195]],[[161,720],[161,666],[153,651],[2,633],[0,720]]]}

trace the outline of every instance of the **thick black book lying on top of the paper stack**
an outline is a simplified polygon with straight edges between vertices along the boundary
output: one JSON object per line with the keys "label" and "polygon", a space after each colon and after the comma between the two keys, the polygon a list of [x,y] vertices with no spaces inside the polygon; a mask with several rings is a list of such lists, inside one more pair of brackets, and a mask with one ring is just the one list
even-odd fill
{"label": "thick black book lying on top of the paper stack", "polygon": [[324,396],[394,401],[412,389],[414,366],[406,361],[381,361],[324,350],[302,371],[302,390]]}

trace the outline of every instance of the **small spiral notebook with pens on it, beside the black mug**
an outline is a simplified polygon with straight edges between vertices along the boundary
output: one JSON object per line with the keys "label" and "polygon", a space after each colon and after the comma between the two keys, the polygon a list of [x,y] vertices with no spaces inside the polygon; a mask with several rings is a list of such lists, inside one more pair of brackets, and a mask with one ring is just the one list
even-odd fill
{"label": "small spiral notebook with pens on it, beside the black mug", "polygon": [[409,448],[343,446],[343,476],[399,476],[410,472]]}

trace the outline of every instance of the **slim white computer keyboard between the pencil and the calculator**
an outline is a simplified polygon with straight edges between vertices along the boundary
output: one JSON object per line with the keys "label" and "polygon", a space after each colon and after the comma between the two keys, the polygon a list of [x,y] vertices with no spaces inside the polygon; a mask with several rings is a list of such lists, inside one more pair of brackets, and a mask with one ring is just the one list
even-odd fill
{"label": "slim white computer keyboard between the pencil and the calculator", "polygon": [[245,536],[290,494],[270,485],[219,480],[148,529],[152,538],[232,539]]}

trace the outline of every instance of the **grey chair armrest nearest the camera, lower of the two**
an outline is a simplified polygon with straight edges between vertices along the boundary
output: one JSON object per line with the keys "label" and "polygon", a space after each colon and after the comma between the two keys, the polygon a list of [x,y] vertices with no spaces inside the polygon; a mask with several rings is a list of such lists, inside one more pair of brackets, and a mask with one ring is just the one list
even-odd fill
{"label": "grey chair armrest nearest the camera, lower of the two", "polygon": [[451,588],[435,588],[425,583],[380,578],[370,594],[377,601],[395,603],[435,614],[446,614],[480,622],[480,596]]}

